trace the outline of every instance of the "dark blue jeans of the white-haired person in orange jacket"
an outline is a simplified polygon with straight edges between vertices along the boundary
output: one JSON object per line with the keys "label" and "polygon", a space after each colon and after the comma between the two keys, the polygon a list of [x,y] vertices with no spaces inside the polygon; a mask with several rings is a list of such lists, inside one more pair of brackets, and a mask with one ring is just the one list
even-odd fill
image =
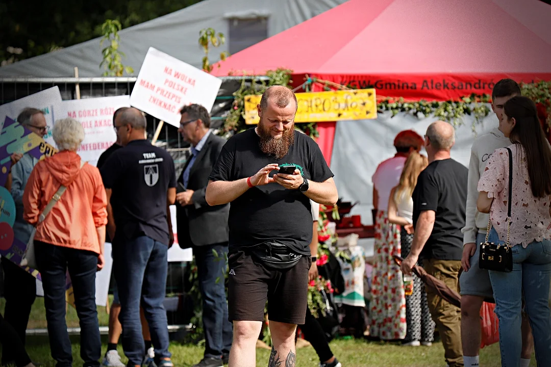
{"label": "dark blue jeans of the white-haired person in orange jacket", "polygon": [[35,241],[35,252],[44,288],[50,349],[57,367],[73,364],[71,341],[65,322],[67,270],[71,276],[74,304],[80,322],[80,357],[84,367],[99,366],[101,340],[96,310],[98,254],[39,241]]}

